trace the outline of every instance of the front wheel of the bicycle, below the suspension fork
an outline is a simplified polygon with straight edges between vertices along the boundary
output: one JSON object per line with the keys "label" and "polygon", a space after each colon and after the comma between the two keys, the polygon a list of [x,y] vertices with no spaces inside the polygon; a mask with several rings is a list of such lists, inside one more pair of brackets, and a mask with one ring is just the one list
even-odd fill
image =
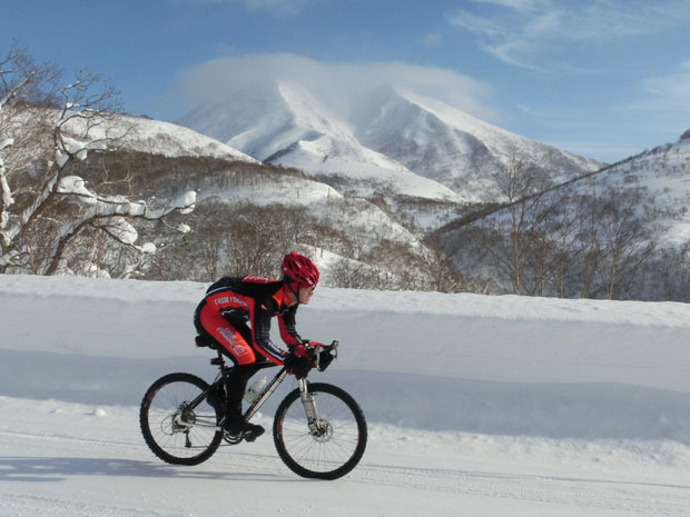
{"label": "front wheel of the bicycle, below the suspension fork", "polygon": [[309,384],[315,398],[318,429],[309,429],[299,389],[280,402],[273,438],[280,459],[295,474],[337,479],[349,473],[366,448],[366,420],[354,398],[337,386]]}

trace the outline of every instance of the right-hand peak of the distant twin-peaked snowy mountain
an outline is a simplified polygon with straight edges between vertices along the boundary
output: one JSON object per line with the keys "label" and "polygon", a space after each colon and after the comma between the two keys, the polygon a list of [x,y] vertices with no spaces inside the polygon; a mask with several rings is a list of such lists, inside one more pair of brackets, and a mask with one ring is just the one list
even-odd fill
{"label": "right-hand peak of the distant twin-peaked snowy mountain", "polygon": [[516,158],[560,183],[603,165],[486,123],[435,99],[393,90],[359,140],[473,201],[494,201],[490,176]]}

